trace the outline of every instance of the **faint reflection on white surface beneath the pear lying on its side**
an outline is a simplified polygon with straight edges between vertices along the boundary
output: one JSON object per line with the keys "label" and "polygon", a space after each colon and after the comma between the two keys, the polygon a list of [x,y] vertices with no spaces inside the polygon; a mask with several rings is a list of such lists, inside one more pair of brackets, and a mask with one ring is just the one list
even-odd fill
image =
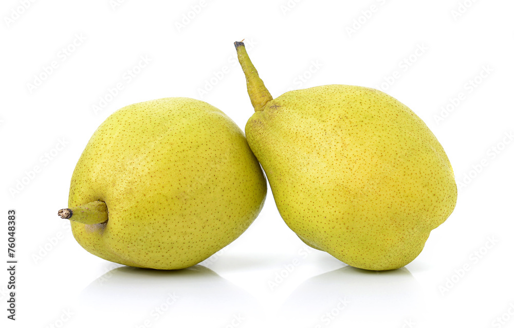
{"label": "faint reflection on white surface beneath the pear lying on its side", "polygon": [[261,317],[251,295],[201,265],[181,270],[118,267],[84,288],[79,303],[95,314],[81,321],[93,324],[103,318],[115,326],[224,327]]}

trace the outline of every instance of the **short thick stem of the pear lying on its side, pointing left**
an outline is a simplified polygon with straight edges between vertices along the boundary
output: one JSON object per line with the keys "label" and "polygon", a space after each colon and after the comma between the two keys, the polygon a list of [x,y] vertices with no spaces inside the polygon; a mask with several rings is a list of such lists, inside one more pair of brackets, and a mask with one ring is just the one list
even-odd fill
{"label": "short thick stem of the pear lying on its side, pointing left", "polygon": [[70,221],[80,222],[83,224],[104,223],[109,218],[107,205],[101,201],[90,202],[85,205],[79,205],[70,208],[63,208],[57,213],[61,218],[67,218]]}

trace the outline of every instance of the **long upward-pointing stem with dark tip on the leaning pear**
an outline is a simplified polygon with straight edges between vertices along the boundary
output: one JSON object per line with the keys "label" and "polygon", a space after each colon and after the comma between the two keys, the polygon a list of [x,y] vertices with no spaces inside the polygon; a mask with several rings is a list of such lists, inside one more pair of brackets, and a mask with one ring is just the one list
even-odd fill
{"label": "long upward-pointing stem with dark tip on the leaning pear", "polygon": [[243,42],[234,42],[235,50],[237,51],[237,59],[243,68],[246,77],[246,87],[250,101],[255,109],[255,112],[264,110],[264,106],[270,100],[273,100],[268,89],[264,86],[259,77],[259,73],[253,66],[248,53],[246,52],[245,44]]}

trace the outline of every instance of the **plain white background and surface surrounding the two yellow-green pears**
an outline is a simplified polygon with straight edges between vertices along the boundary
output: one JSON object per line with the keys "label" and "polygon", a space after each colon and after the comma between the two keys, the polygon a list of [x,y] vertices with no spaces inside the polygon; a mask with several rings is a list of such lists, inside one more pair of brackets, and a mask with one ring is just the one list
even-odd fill
{"label": "plain white background and surface surrounding the two yellow-green pears", "polygon": [[[15,209],[19,261],[15,322],[0,267],[2,326],[514,326],[514,3],[120,2],[2,1],[0,249],[7,261]],[[273,97],[323,84],[380,87],[428,124],[458,199],[412,263],[372,272],[309,249],[270,190],[239,239],[190,269],[124,267],[74,240],[57,210],[89,137],[118,108],[191,97],[244,129],[253,108],[234,57],[242,39]],[[141,56],[150,63],[135,68]],[[131,81],[128,70],[138,72]]]}

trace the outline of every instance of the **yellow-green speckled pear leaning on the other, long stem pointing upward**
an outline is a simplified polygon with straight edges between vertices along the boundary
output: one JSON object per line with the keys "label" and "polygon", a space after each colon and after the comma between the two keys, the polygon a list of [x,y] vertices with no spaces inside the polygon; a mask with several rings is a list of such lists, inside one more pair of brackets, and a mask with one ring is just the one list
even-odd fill
{"label": "yellow-green speckled pear leaning on the other, long stem pointing upward", "polygon": [[372,88],[324,85],[272,99],[244,45],[235,45],[255,108],[247,140],[285,223],[348,265],[410,263],[457,198],[448,157],[427,125]]}

